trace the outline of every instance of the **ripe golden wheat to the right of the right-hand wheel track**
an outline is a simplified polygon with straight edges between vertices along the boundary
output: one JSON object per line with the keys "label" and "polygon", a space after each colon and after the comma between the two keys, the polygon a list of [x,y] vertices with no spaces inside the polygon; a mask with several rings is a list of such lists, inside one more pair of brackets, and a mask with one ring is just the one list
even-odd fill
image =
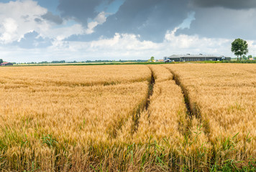
{"label": "ripe golden wheat to the right of the right-hand wheel track", "polygon": [[208,135],[211,152],[249,161],[256,157],[256,66],[166,65],[181,83],[194,118]]}

